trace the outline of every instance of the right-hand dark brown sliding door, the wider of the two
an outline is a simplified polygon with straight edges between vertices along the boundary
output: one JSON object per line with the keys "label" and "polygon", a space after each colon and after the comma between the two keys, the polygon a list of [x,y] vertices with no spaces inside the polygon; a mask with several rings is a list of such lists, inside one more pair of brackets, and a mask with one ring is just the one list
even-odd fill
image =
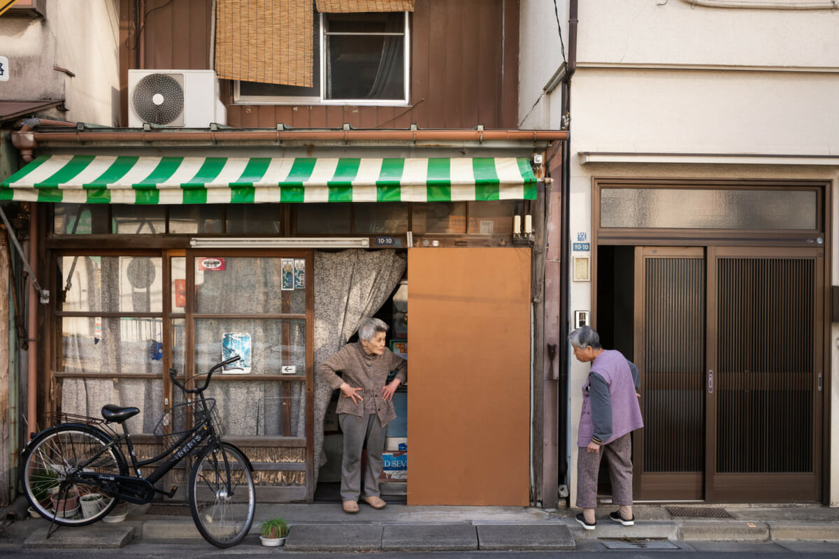
{"label": "right-hand dark brown sliding door, the wider of the two", "polygon": [[706,500],[820,499],[824,251],[708,262]]}

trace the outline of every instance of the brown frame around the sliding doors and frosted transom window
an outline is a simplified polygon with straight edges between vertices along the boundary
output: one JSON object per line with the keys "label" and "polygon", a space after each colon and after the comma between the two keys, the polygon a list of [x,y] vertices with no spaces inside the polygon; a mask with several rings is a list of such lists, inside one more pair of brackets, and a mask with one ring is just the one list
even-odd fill
{"label": "brown frame around the sliding doors and frosted transom window", "polygon": [[[831,285],[832,245],[833,245],[833,188],[836,181],[824,180],[777,180],[777,179],[674,179],[667,177],[607,177],[591,176],[591,325],[597,329],[597,247],[600,244],[614,246],[813,246],[816,237],[821,237],[824,247],[824,264],[822,274],[817,280],[823,286],[823,301],[816,313],[821,313],[821,342],[822,359],[822,396],[821,396],[821,502],[830,502],[831,453],[831,294],[826,292],[826,286]],[[817,231],[811,234],[789,233],[779,239],[779,231],[749,231],[749,230],[604,230],[600,227],[600,199],[601,189],[613,186],[661,186],[671,185],[681,188],[731,188],[734,187],[774,187],[774,188],[816,188],[820,189],[821,197],[818,203]],[[568,241],[571,242],[571,241]],[[566,272],[570,275],[570,271]],[[571,321],[573,316],[568,317]],[[567,450],[567,449],[566,449]],[[814,464],[815,466],[816,464]]]}

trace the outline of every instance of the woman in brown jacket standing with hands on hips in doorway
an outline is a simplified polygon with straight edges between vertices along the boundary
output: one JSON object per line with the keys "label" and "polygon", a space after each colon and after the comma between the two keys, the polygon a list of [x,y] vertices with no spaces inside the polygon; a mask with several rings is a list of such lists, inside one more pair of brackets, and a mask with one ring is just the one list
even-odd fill
{"label": "woman in brown jacket standing with hands on hips in doorway", "polygon": [[[408,376],[408,362],[384,346],[388,325],[378,318],[367,318],[358,328],[358,342],[346,344],[320,364],[317,374],[333,389],[341,390],[337,413],[344,433],[341,463],[341,500],[344,512],[358,512],[361,489],[362,448],[367,441],[367,468],[364,472],[363,500],[374,509],[387,503],[378,494],[382,474],[384,434],[388,422],[396,417],[393,392]],[[387,382],[388,373],[397,370]],[[336,375],[343,372],[343,378]]]}

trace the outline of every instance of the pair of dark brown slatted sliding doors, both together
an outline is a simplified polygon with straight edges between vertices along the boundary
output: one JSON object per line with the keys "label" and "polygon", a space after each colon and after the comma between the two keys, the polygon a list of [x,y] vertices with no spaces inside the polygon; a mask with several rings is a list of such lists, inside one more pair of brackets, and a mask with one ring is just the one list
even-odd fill
{"label": "pair of dark brown slatted sliding doors, both together", "polygon": [[819,248],[636,248],[636,499],[820,499],[823,266]]}

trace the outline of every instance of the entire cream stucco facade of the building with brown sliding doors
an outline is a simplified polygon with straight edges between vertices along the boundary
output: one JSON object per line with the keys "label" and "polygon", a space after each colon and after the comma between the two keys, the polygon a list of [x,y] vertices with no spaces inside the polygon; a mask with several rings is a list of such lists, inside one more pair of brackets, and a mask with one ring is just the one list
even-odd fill
{"label": "entire cream stucco facade of the building with brown sliding doors", "polygon": [[[591,240],[593,177],[832,181],[832,283],[839,285],[839,10],[691,8],[670,0],[580,2],[571,85],[571,241]],[[568,51],[567,2],[559,3]],[[522,0],[522,127],[561,127],[553,3]],[[525,33],[529,26],[529,33]],[[553,39],[555,38],[555,39]],[[588,163],[580,152],[815,155],[820,165]],[[725,158],[722,158],[723,160]],[[731,159],[731,158],[729,158]],[[789,160],[788,160],[789,161]],[[574,256],[575,253],[572,253]],[[577,255],[577,256],[582,256]],[[590,310],[591,282],[571,282],[571,318]],[[831,424],[839,425],[839,328],[831,327]],[[587,365],[571,363],[569,481],[576,505],[576,430]],[[839,429],[830,447],[829,501],[839,506]],[[562,483],[560,481],[560,483]]]}

